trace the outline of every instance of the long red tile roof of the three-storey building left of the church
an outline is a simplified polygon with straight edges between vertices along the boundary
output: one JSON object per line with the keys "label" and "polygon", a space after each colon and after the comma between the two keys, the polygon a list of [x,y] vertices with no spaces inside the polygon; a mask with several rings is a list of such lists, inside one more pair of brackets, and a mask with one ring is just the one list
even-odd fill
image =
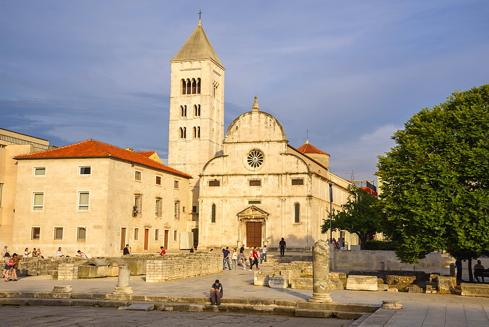
{"label": "long red tile roof of the three-storey building left of the church", "polygon": [[[149,153],[151,151],[143,151]],[[151,152],[154,153],[154,152]],[[169,166],[163,165],[155,160],[152,160],[145,155],[125,149],[115,147],[113,145],[102,143],[96,140],[86,140],[70,144],[64,147],[17,155],[15,159],[39,159],[39,158],[80,158],[80,157],[114,157],[122,160],[127,160],[135,164],[156,168],[168,173],[177,174],[185,178],[192,178],[191,175],[180,172]]]}

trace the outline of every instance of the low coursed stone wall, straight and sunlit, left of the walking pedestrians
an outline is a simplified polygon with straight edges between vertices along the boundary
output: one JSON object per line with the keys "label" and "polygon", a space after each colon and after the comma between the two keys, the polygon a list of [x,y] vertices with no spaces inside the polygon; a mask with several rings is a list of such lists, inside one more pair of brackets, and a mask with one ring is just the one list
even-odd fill
{"label": "low coursed stone wall, straight and sunlit, left of the walking pedestrians", "polygon": [[161,283],[220,271],[222,253],[167,254],[157,259],[147,259],[146,282]]}

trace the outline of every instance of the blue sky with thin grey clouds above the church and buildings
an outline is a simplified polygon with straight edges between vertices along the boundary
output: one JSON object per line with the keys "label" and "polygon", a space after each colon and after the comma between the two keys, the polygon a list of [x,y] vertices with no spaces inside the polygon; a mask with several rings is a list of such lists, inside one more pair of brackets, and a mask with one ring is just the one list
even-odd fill
{"label": "blue sky with thin grey clouds above the church and buildings", "polygon": [[169,60],[199,10],[226,68],[225,128],[256,94],[341,177],[374,178],[414,113],[489,83],[486,0],[0,0],[0,128],[166,158]]}

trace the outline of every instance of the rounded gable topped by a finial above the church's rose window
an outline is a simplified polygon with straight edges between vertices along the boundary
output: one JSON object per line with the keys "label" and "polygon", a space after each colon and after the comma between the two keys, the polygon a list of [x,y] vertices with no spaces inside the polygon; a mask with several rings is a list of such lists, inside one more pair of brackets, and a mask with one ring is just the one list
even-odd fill
{"label": "rounded gable topped by a finial above the church's rose window", "polygon": [[255,96],[252,110],[243,113],[229,125],[224,143],[267,141],[287,142],[287,137],[280,122],[271,114],[260,110]]}

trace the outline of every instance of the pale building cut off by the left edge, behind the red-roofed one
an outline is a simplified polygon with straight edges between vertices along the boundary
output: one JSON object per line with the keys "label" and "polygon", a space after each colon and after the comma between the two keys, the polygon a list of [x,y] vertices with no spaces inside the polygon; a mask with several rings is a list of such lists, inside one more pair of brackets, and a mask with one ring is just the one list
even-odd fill
{"label": "pale building cut off by the left edge, behind the red-roofed one", "polygon": [[17,186],[17,160],[13,157],[51,148],[47,140],[0,129],[0,240],[7,245],[12,242]]}

